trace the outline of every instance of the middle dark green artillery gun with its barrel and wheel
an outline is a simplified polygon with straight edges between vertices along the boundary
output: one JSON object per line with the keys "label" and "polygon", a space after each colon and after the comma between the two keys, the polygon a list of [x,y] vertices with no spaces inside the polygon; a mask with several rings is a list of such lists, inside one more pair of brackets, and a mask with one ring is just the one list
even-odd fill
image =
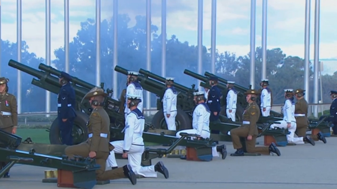
{"label": "middle dark green artillery gun with its barrel and wheel", "polygon": [[[127,69],[120,66],[116,66],[115,71],[124,75],[128,73]],[[143,89],[154,93],[158,97],[157,110],[159,111],[153,116],[152,125],[158,129],[167,129],[162,107],[162,99],[166,90],[165,78],[143,69],[140,69],[139,73],[138,80]],[[176,82],[174,87],[178,91],[176,130],[189,129],[191,128],[191,117],[195,107],[193,92],[197,91],[197,89],[194,88],[194,84],[191,88],[188,88]]]}

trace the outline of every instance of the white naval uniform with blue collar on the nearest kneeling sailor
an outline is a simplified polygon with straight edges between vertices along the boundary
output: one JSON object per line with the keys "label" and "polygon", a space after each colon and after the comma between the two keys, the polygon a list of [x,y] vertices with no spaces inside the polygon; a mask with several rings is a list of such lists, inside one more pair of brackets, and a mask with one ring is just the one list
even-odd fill
{"label": "white naval uniform with blue collar on the nearest kneeling sailor", "polygon": [[141,166],[142,154],[144,152],[143,130],[145,118],[139,109],[134,109],[126,117],[125,134],[123,141],[110,142],[115,148],[110,152],[106,160],[107,166],[117,167],[115,153],[122,154],[123,150],[127,151],[127,158],[132,171],[136,175],[144,177],[157,177],[154,165]]}

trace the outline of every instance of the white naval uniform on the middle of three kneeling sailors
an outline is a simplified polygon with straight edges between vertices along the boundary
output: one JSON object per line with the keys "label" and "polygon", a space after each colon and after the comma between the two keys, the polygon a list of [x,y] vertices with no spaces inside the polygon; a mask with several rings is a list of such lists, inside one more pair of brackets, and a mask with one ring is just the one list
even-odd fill
{"label": "white naval uniform on the middle of three kneeling sailors", "polygon": [[[194,135],[200,135],[200,137],[206,139],[210,138],[210,115],[211,111],[206,103],[198,104],[194,111],[192,117],[192,129],[180,130],[176,133],[176,137],[180,138],[180,133],[188,133]],[[192,138],[194,139],[194,138]],[[216,151],[216,146],[212,147],[213,157],[219,157],[219,153]]]}

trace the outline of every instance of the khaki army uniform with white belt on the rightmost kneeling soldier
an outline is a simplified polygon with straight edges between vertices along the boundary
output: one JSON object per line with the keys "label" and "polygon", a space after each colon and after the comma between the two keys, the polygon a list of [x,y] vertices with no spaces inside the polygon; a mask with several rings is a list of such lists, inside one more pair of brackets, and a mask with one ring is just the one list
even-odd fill
{"label": "khaki army uniform with white belt on the rightmost kneeling soldier", "polygon": [[[295,104],[296,131],[298,137],[305,137],[309,126],[308,122],[308,102],[302,98]],[[318,140],[318,139],[317,139]]]}

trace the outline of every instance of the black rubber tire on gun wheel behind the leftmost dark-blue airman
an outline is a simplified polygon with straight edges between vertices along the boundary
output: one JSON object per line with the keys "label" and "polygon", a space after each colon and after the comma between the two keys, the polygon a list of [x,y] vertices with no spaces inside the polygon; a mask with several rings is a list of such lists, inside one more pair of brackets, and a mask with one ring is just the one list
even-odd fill
{"label": "black rubber tire on gun wheel behind the leftmost dark-blue airman", "polygon": [[[76,111],[76,117],[74,120],[74,124],[78,125],[81,127],[81,129],[83,130],[83,140],[81,142],[84,142],[88,139],[88,128],[86,126],[87,121],[89,120],[89,116],[88,114],[81,112],[81,111]],[[61,140],[60,140],[60,127],[58,124],[58,118],[56,118],[49,130],[49,142],[50,144],[62,144]],[[79,143],[74,143],[75,144],[79,144]]]}

